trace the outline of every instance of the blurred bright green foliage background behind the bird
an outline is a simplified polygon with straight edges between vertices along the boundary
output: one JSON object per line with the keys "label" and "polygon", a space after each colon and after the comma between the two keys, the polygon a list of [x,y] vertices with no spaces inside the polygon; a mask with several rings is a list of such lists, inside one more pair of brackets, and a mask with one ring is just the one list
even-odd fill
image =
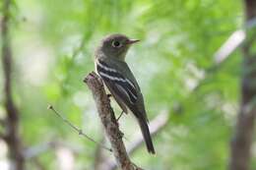
{"label": "blurred bright green foliage background behind the bird", "polygon": [[[47,110],[52,104],[85,134],[109,145],[83,79],[94,71],[96,45],[113,32],[141,39],[127,63],[141,85],[150,120],[159,115],[166,120],[154,137],[157,155],[142,145],[130,154],[132,161],[149,170],[226,168],[241,53],[234,51],[221,64],[214,56],[242,27],[240,0],[17,0],[11,13],[13,97],[27,169],[91,170],[103,161],[98,152],[113,157]],[[3,98],[0,94],[2,118]],[[118,115],[120,108],[112,105]],[[139,127],[130,115],[119,124],[128,147]],[[0,150],[0,169],[6,170],[11,162],[4,141]],[[252,159],[256,168],[256,151]]]}

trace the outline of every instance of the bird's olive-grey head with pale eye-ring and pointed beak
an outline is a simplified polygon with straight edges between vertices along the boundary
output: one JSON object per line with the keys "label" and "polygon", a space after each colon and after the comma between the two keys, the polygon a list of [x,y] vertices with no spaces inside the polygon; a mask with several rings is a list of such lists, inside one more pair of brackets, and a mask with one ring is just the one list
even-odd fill
{"label": "bird's olive-grey head with pale eye-ring and pointed beak", "polygon": [[138,39],[130,39],[123,34],[110,34],[101,40],[100,45],[96,49],[96,53],[124,61],[131,44],[138,41]]}

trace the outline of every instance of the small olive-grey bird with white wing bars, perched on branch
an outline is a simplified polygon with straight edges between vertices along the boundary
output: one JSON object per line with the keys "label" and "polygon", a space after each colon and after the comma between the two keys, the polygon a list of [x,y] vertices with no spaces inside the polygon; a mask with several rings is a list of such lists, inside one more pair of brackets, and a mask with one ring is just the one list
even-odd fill
{"label": "small olive-grey bird with white wing bars, perched on branch", "polygon": [[126,114],[130,111],[135,115],[148,151],[155,154],[143,95],[133,73],[125,62],[128,49],[138,41],[119,33],[104,37],[96,48],[96,73],[122,111]]}

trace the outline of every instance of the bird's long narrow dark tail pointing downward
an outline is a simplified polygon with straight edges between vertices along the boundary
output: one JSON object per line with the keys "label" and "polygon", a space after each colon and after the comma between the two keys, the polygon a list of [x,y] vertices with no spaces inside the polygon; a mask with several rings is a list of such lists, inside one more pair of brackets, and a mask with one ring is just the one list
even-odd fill
{"label": "bird's long narrow dark tail pointing downward", "polygon": [[156,151],[155,151],[152,139],[151,139],[151,134],[150,134],[150,130],[149,130],[147,122],[145,120],[140,120],[140,119],[138,119],[138,121],[139,121],[139,124],[141,127],[144,141],[146,142],[148,151],[152,154],[155,154]]}

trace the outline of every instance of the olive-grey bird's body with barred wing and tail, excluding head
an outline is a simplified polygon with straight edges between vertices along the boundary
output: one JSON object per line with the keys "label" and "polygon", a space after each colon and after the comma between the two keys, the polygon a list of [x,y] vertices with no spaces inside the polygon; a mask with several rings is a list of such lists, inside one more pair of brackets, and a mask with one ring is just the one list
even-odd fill
{"label": "olive-grey bird's body with barred wing and tail, excluding head", "polygon": [[[123,69],[130,71],[127,67]],[[122,109],[123,107],[126,109],[127,106],[138,118],[149,152],[156,153],[147,124],[148,119],[144,108],[143,96],[137,83],[135,83],[135,85],[131,80],[124,76],[124,72],[110,67],[109,64],[101,60],[96,61],[96,72],[110,90],[119,106]],[[124,109],[123,111],[125,112]]]}

